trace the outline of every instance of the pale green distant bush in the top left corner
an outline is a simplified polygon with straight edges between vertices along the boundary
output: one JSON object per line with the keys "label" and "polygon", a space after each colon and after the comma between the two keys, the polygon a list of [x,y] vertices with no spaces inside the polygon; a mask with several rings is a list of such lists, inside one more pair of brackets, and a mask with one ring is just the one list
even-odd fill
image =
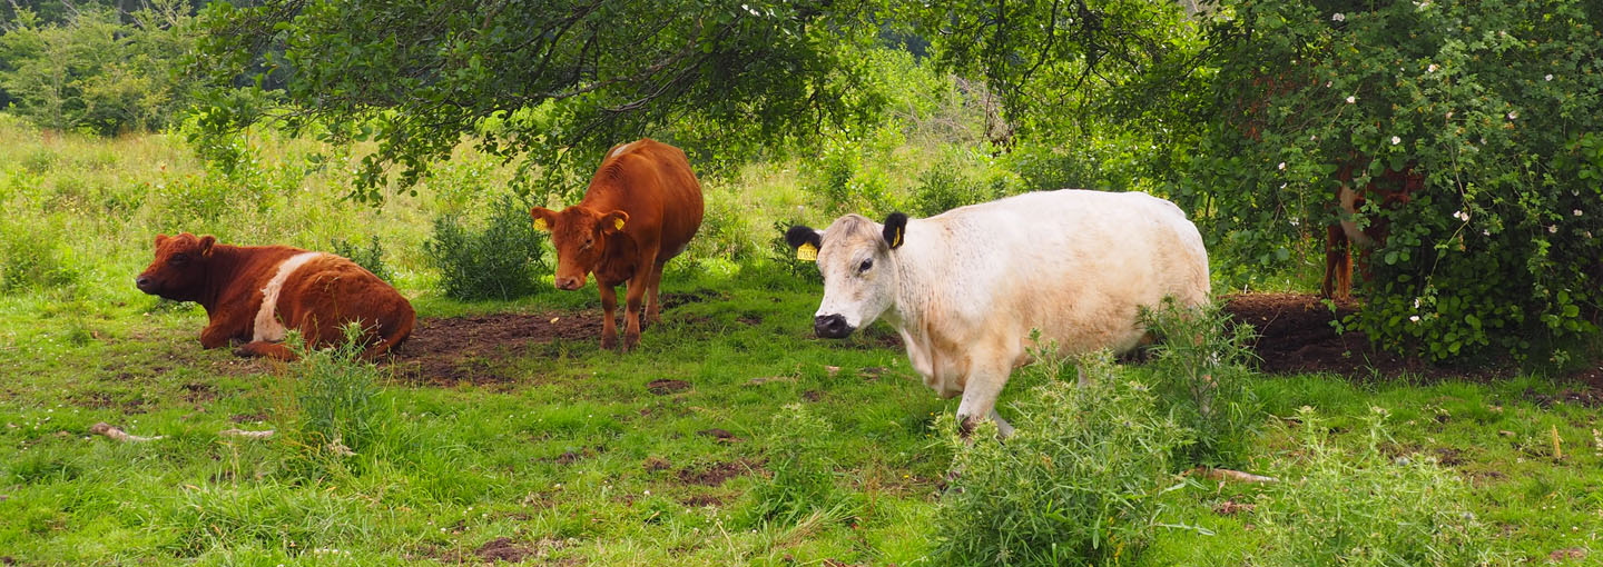
{"label": "pale green distant bush in the top left corner", "polygon": [[85,3],[63,22],[22,8],[0,35],[0,90],[16,111],[58,130],[159,130],[188,104],[181,58],[194,45],[189,6],[157,0],[123,14]]}

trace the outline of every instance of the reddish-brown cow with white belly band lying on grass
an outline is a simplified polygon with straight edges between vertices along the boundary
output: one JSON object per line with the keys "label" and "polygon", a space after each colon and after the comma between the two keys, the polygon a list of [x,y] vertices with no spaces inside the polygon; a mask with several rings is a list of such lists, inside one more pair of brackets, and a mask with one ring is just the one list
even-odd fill
{"label": "reddish-brown cow with white belly band lying on grass", "polygon": [[290,360],[284,341],[297,328],[309,346],[345,340],[359,322],[364,357],[373,359],[412,335],[412,304],[356,263],[290,247],[231,247],[184,232],[155,237],[155,261],[135,280],[139,292],[196,301],[210,324],[200,346],[245,343],[234,354]]}

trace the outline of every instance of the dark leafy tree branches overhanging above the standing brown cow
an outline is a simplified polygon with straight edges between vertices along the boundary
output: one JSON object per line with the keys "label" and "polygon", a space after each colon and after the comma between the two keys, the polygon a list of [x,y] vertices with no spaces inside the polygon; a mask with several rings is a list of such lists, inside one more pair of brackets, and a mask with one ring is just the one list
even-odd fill
{"label": "dark leafy tree branches overhanging above the standing brown cow", "polygon": [[550,183],[648,133],[692,154],[763,152],[877,114],[882,98],[854,72],[854,50],[877,32],[870,11],[866,0],[213,3],[197,69],[224,90],[202,125],[261,120],[226,88],[277,77],[292,104],[274,117],[378,143],[353,195],[373,202],[391,167],[409,186],[463,136],[523,154]]}

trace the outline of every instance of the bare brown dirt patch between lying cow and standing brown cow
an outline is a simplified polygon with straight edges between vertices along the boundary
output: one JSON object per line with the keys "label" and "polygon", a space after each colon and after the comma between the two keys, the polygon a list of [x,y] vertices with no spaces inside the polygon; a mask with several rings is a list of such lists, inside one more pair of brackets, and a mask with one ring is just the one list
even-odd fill
{"label": "bare brown dirt patch between lying cow and standing brown cow", "polygon": [[422,319],[396,351],[393,365],[417,383],[474,384],[510,381],[499,362],[527,354],[553,340],[600,341],[601,312],[502,312],[491,316]]}

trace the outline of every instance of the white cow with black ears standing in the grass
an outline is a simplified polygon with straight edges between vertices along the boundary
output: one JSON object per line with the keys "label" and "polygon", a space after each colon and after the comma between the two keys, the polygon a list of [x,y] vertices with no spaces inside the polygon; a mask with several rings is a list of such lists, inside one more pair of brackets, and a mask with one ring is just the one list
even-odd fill
{"label": "white cow with black ears standing in the grass", "polygon": [[1146,336],[1140,306],[1209,300],[1202,235],[1180,207],[1140,192],[1034,192],[883,226],[846,215],[785,240],[824,274],[814,332],[845,338],[883,317],[927,386],[963,394],[963,431],[986,416],[1013,431],[995,400],[1028,362],[1031,330],[1066,354],[1124,352]]}

